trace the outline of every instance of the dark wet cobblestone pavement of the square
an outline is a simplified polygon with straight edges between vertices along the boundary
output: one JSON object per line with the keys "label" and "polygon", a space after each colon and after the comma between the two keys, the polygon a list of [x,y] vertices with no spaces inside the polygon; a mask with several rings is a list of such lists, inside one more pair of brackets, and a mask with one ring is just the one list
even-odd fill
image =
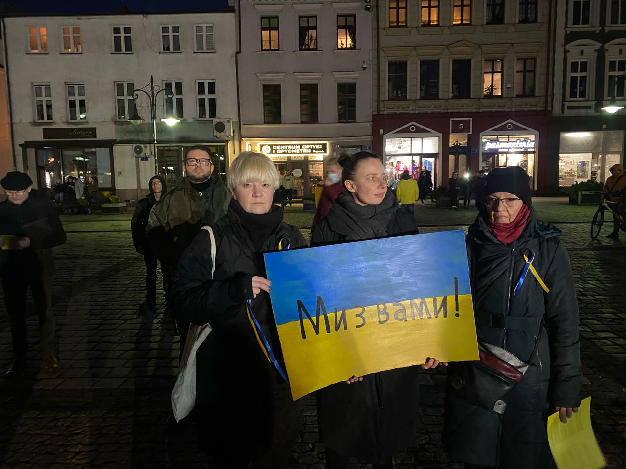
{"label": "dark wet cobblestone pavement of the square", "polygon": [[[299,226],[307,226],[311,216],[287,214]],[[0,468],[210,468],[207,457],[195,451],[193,423],[173,438],[166,437],[178,338],[170,319],[163,316],[162,303],[155,315],[136,313],[145,273],[130,233],[97,231],[117,228],[111,221],[125,229],[128,220],[100,219],[105,223],[90,226],[85,221],[81,226],[73,223],[79,218],[64,218],[68,231],[96,231],[69,233],[68,242],[55,250],[58,372],[39,372],[37,322],[31,316],[31,371],[13,383],[0,377]],[[429,226],[423,231],[458,228]],[[572,258],[581,309],[583,373],[588,380],[582,393],[592,396],[593,426],[608,467],[623,468],[626,245],[604,238],[590,243],[588,224],[560,228]],[[308,230],[303,233],[308,238]],[[9,365],[11,349],[4,304],[0,308],[1,372]],[[441,450],[444,377],[439,373],[421,376],[419,431],[413,446],[395,456],[398,469],[461,467],[449,463]],[[307,401],[290,468],[324,468],[314,398]],[[369,465],[356,462],[352,466],[366,468]]]}

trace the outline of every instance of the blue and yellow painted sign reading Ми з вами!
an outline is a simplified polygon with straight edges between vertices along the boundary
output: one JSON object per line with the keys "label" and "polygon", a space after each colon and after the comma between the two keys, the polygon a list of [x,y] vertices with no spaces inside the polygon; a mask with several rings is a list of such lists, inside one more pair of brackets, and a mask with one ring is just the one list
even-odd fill
{"label": "blue and yellow painted sign reading \u041c\u0438 \u0437 \u0432\u0430\u043c\u0438!", "polygon": [[294,399],[429,356],[478,360],[462,230],[264,258]]}

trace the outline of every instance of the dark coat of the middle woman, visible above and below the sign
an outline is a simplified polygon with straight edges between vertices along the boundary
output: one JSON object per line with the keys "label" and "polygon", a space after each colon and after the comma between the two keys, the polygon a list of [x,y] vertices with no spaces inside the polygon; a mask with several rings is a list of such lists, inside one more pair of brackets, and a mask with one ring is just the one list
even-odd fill
{"label": "dark coat of the middle woman, visible above and below the sign", "polygon": [[[345,194],[345,193],[344,193]],[[311,233],[311,244],[346,241],[333,231],[334,209]],[[387,224],[387,235],[418,233],[414,218],[396,210]],[[332,268],[332,266],[331,266]],[[349,376],[346,376],[346,379]],[[335,451],[374,463],[409,446],[418,415],[418,368],[400,368],[363,376],[362,382],[344,381],[327,386],[317,396],[319,429],[324,444]]]}

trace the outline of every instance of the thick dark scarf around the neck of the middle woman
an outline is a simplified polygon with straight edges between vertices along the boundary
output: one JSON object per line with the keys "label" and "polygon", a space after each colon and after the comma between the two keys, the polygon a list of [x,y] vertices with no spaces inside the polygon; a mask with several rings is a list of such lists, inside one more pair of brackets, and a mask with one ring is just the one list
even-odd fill
{"label": "thick dark scarf around the neck of the middle woman", "polygon": [[391,191],[377,205],[359,205],[349,191],[337,197],[327,215],[332,231],[346,236],[347,240],[369,240],[387,236],[389,220],[398,210],[398,200]]}

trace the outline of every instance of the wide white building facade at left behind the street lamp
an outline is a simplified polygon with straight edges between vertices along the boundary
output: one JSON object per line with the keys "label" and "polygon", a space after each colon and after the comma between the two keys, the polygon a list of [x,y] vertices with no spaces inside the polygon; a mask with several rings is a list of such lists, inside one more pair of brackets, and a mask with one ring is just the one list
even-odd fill
{"label": "wide white building facade at left behind the street lamp", "polygon": [[[97,178],[101,191],[133,201],[155,166],[173,185],[193,144],[208,146],[225,174],[240,146],[232,9],[5,24],[13,151],[39,188],[69,175]],[[136,91],[151,76],[165,90],[155,98],[156,145],[150,98]],[[135,111],[145,122],[128,121]],[[169,126],[166,116],[179,121]]]}

